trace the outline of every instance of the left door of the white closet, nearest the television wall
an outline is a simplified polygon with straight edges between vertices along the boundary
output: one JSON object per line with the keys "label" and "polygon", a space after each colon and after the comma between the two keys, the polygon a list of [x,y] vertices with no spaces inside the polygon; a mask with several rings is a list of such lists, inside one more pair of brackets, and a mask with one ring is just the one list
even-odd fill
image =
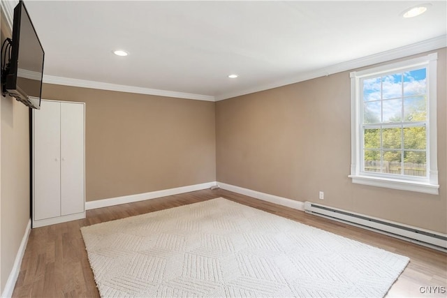
{"label": "left door of the white closet, nearest the television wall", "polygon": [[61,215],[60,103],[34,110],[34,221]]}

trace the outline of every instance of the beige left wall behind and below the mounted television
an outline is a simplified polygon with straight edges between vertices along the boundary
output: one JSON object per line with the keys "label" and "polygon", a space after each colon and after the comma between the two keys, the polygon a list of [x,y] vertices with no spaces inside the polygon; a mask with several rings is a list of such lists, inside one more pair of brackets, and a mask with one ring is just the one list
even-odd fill
{"label": "beige left wall behind and below the mounted television", "polygon": [[[10,31],[1,22],[1,40]],[[29,108],[0,96],[0,293],[29,223]]]}

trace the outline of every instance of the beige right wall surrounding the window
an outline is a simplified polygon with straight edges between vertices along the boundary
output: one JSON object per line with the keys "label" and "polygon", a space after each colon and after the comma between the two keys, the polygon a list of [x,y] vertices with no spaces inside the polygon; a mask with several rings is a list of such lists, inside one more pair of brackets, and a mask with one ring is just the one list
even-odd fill
{"label": "beige right wall surrounding the window", "polygon": [[446,233],[446,48],[436,52],[439,195],[351,183],[349,72],[219,101],[217,181]]}

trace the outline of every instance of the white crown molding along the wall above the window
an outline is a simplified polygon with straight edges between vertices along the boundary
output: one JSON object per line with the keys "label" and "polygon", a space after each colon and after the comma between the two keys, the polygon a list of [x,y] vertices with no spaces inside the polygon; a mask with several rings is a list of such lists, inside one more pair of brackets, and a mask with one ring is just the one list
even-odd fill
{"label": "white crown molding along the wall above the window", "polygon": [[332,75],[334,73],[341,73],[346,70],[353,70],[355,68],[361,68],[364,66],[370,66],[373,64],[379,64],[382,62],[390,61],[393,59],[400,59],[408,57],[414,54],[420,54],[423,52],[428,52],[432,50],[440,49],[441,47],[447,47],[447,36],[438,36],[435,38],[430,38],[423,40],[419,43],[413,43],[411,45],[406,45],[404,47],[398,47],[393,50],[388,50],[385,52],[380,52],[377,54],[372,54],[367,57],[362,57],[358,59],[353,59],[351,61],[342,62],[340,64],[335,64],[328,66],[326,68],[320,68],[318,70],[310,71],[308,73],[302,73],[296,77],[289,78],[287,80],[281,80],[277,82],[272,82],[270,84],[264,84],[262,86],[245,89],[242,91],[229,92],[226,94],[219,94],[215,96],[216,101],[224,100],[228,98],[233,98],[237,96],[242,96],[246,94],[252,94],[259,91],[264,91],[268,89],[273,89],[277,87],[282,87],[288,84],[294,84],[298,82],[303,82],[306,80],[312,80],[316,77],[324,77],[327,75]]}

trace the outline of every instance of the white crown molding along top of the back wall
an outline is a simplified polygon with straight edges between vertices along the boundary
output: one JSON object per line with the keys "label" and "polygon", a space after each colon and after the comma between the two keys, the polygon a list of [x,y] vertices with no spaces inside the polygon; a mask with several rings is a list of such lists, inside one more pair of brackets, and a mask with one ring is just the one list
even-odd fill
{"label": "white crown molding along top of the back wall", "polygon": [[110,84],[110,83],[105,83],[105,82],[94,82],[94,81],[88,81],[88,80],[71,79],[68,77],[57,77],[57,76],[53,76],[53,75],[43,75],[43,82],[46,84],[57,84],[57,85],[65,85],[65,86],[73,86],[73,87],[120,91],[120,92],[136,93],[136,94],[147,94],[147,95],[186,98],[186,99],[194,99],[194,100],[215,101],[214,96],[210,96],[210,95],[191,94],[191,93],[177,92],[177,91],[133,87],[133,86],[120,85],[120,84]]}

